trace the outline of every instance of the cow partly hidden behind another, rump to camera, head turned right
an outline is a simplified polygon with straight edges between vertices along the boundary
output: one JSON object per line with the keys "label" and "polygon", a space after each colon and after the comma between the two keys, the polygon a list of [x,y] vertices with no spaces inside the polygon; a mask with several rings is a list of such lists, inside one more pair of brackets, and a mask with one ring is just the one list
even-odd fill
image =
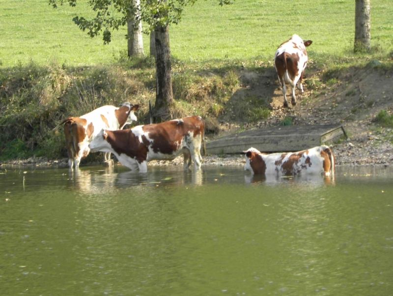
{"label": "cow partly hidden behind another, rump to camera, head turned right", "polygon": [[[90,149],[88,144],[103,129],[122,129],[126,124],[137,121],[134,112],[139,105],[132,105],[129,102],[123,103],[120,107],[102,106],[90,113],[80,117],[67,117],[59,125],[64,124],[65,143],[68,150],[68,165],[70,169],[79,168],[83,157],[86,157]],[[104,160],[108,161],[109,155],[104,154]]]}

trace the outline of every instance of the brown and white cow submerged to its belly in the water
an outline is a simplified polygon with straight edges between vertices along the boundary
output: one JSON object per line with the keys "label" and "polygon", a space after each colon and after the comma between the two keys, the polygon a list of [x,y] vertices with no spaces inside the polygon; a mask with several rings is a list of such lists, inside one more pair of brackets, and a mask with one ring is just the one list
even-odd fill
{"label": "brown and white cow submerged to its belly in the water", "polygon": [[246,153],[245,170],[252,173],[296,175],[324,174],[333,176],[335,158],[329,146],[323,145],[308,150],[289,153],[266,154],[255,148]]}

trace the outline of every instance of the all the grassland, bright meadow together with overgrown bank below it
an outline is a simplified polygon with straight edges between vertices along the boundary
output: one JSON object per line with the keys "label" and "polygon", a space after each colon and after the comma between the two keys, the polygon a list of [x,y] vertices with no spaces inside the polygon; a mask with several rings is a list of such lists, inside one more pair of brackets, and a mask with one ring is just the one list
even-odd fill
{"label": "all the grassland, bright meadow together with overgrown bank below it", "polygon": [[[93,15],[86,0],[57,9],[47,0],[0,1],[0,161],[67,157],[62,128],[53,128],[105,104],[138,103],[139,123],[146,122],[154,59],[127,58],[126,28],[104,45],[72,22]],[[313,41],[308,53],[319,73],[370,63],[392,69],[392,0],[371,1],[370,52],[353,53],[354,11],[354,0],[235,0],[223,7],[199,0],[186,7],[169,30],[173,115],[199,114],[212,131],[228,112],[241,123],[269,116],[266,98],[248,97],[235,111],[227,102],[242,85],[242,69],[273,70],[275,50],[295,33]]]}

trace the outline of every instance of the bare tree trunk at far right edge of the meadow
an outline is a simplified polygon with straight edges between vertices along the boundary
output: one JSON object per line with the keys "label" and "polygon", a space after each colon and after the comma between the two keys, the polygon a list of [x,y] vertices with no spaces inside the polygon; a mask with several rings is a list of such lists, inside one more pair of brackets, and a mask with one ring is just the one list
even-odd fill
{"label": "bare tree trunk at far right edge of the meadow", "polygon": [[370,0],[355,0],[355,52],[371,49],[370,20]]}

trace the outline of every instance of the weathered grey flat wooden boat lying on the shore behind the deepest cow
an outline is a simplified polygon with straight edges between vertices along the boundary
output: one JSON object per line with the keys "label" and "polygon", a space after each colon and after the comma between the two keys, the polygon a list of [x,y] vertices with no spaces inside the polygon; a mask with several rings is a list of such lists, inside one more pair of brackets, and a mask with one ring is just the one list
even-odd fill
{"label": "weathered grey flat wooden boat lying on the shore behind the deepest cow", "polygon": [[345,134],[341,125],[280,126],[253,129],[206,143],[209,154],[240,153],[248,148],[264,152],[299,151]]}

